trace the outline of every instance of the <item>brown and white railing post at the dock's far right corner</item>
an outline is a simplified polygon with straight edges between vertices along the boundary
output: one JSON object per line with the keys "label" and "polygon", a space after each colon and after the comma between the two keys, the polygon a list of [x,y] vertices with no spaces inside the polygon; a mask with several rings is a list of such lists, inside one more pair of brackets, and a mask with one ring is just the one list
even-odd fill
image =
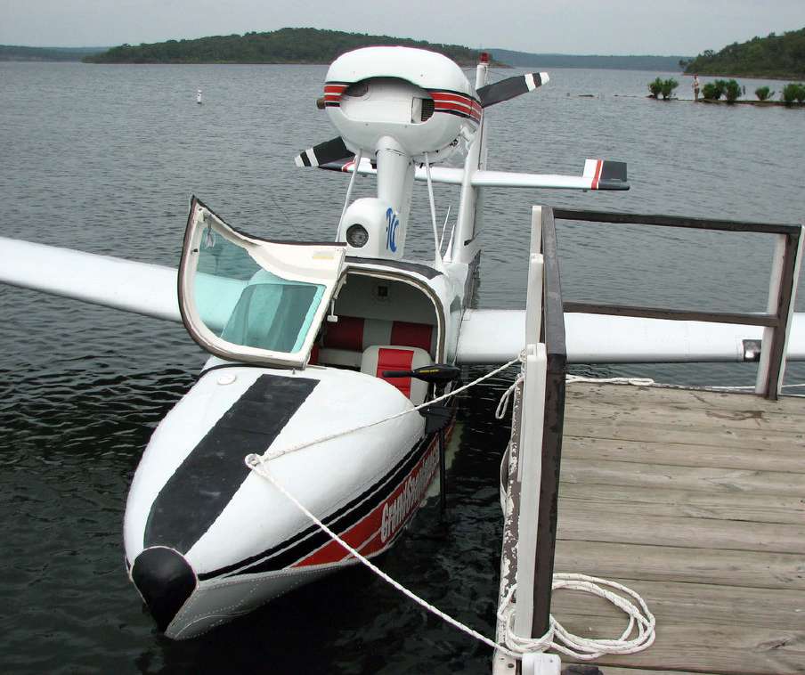
{"label": "brown and white railing post at the dock's far right corner", "polygon": [[803,228],[797,234],[778,234],[768,282],[767,312],[777,326],[763,329],[755,393],[777,400],[785,377],[785,354],[791,331],[797,280],[802,261]]}

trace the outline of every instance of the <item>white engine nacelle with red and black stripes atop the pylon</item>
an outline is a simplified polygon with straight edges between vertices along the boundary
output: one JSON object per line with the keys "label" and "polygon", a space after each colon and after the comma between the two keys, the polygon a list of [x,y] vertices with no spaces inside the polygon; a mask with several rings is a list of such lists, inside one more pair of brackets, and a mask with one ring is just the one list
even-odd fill
{"label": "white engine nacelle with red and black stripes atop the pylon", "polygon": [[365,47],[327,72],[324,105],[346,146],[371,156],[384,137],[421,161],[446,159],[475,134],[481,105],[459,66],[411,47]]}

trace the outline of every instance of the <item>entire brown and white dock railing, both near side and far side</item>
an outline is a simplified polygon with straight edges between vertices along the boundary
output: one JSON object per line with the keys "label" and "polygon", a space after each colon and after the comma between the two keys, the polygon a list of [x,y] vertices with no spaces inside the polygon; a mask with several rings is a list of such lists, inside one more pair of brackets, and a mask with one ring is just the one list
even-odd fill
{"label": "entire brown and white dock railing, both near side and far side", "polygon": [[[767,313],[716,313],[627,305],[564,302],[559,279],[556,219],[595,223],[650,224],[725,232],[777,235]],[[513,630],[540,638],[549,630],[557,541],[558,487],[565,419],[565,313],[715,321],[762,326],[758,388],[777,398],[785,369],[785,341],[793,314],[802,255],[799,225],[738,223],[673,216],[641,216],[533,207],[525,309],[524,377],[516,387],[508,462],[501,467],[506,488],[500,602],[516,586]],[[508,469],[504,469],[508,468]],[[499,622],[498,638],[506,627]],[[500,653],[493,671],[510,673],[517,663]]]}

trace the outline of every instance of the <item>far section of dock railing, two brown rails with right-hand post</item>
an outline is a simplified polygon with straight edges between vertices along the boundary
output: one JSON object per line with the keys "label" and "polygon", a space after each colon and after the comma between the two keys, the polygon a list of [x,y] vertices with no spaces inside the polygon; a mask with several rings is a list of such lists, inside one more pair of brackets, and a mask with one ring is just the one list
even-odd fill
{"label": "far section of dock railing, two brown rails with right-hand post", "polygon": [[[543,209],[549,213],[551,209]],[[645,214],[611,213],[606,211],[576,211],[553,209],[552,218],[598,224],[640,224],[660,227],[716,230],[720,232],[756,232],[776,235],[776,247],[766,313],[698,312],[695,310],[643,307],[636,305],[598,305],[565,302],[565,312],[614,314],[672,321],[710,321],[762,326],[760,365],[755,392],[776,400],[785,374],[785,346],[791,329],[793,299],[802,257],[802,226],[792,224],[748,223],[731,220],[705,220],[679,216],[649,216]]]}

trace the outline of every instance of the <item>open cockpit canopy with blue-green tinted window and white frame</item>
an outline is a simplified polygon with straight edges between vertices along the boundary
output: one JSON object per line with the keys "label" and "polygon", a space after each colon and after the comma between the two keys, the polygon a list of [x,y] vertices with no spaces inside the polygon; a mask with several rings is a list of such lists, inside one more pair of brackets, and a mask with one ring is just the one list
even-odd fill
{"label": "open cockpit canopy with blue-green tinted window and white frame", "polygon": [[179,270],[191,337],[239,362],[302,367],[344,263],[344,244],[262,240],[193,198]]}

